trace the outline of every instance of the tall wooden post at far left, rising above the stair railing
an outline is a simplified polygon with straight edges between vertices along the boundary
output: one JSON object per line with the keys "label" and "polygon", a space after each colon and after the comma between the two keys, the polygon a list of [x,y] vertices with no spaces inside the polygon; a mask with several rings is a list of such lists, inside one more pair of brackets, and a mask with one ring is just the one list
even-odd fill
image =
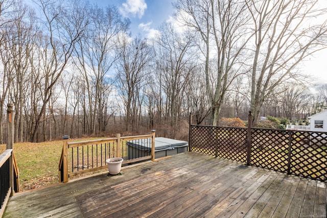
{"label": "tall wooden post at far left, rising above the stair railing", "polygon": [[[7,137],[7,149],[13,149],[14,147],[14,105],[9,103],[7,105],[7,122],[8,122],[8,137]],[[10,196],[14,193],[14,150],[11,151],[9,158],[9,183],[11,187]]]}

